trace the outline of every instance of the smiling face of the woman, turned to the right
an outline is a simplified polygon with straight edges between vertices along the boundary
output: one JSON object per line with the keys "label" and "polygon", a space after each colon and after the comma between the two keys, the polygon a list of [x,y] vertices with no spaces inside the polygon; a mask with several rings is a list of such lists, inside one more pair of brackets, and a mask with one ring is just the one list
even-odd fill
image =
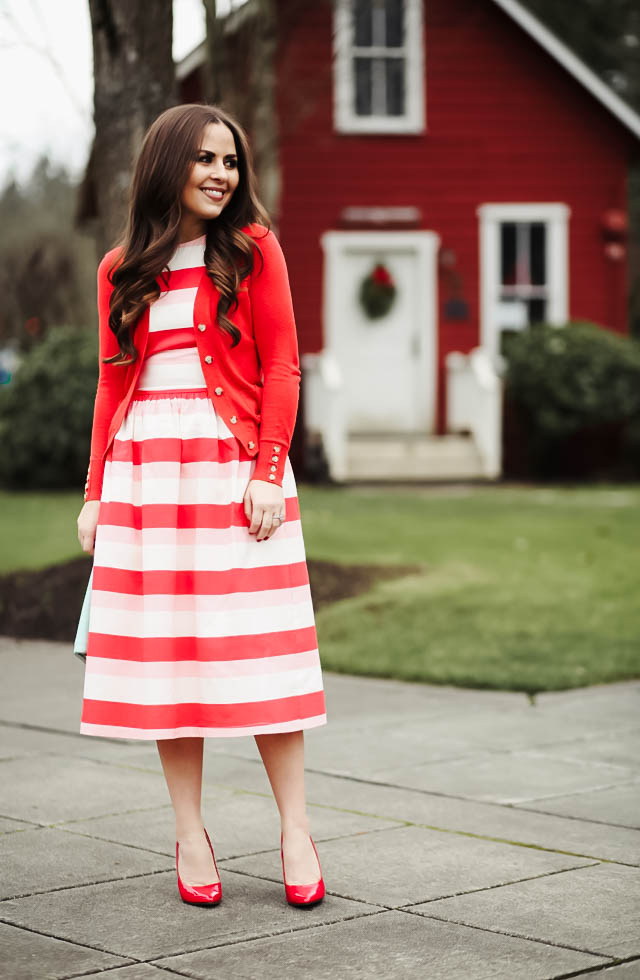
{"label": "smiling face of the woman, turned to the right", "polygon": [[204,233],[205,222],[217,218],[238,186],[238,157],[233,133],[224,123],[209,123],[196,162],[181,195],[181,237]]}

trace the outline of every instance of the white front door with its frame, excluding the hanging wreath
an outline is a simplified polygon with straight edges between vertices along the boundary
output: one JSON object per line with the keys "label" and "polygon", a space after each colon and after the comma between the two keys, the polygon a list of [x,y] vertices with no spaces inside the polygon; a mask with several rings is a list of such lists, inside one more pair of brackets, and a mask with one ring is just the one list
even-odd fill
{"label": "white front door with its frame, excluding the hanging wreath", "polygon": [[[433,232],[340,232],[325,248],[324,336],[340,368],[351,433],[427,433],[436,395]],[[382,262],[395,283],[390,310],[370,319],[362,280]]]}

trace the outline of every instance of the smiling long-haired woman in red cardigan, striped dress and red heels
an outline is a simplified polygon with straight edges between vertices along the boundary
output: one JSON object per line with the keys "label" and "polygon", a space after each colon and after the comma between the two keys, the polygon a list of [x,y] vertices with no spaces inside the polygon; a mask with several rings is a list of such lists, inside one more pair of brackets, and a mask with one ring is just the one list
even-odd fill
{"label": "smiling long-haired woman in red cardigan, striped dress and red heels", "polygon": [[98,269],[80,731],[156,739],[180,895],[207,905],[221,883],[201,816],[204,738],[253,735],[280,812],[286,898],[312,905],[324,883],[303,729],[326,714],[287,455],[300,368],[285,260],[255,186],[232,116],[168,109]]}

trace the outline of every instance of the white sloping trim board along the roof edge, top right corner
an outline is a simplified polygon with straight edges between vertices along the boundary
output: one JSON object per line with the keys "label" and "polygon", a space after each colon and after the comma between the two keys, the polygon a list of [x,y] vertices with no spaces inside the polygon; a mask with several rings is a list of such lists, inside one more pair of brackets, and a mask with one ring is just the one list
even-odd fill
{"label": "white sloping trim board along the roof edge, top right corner", "polygon": [[584,61],[581,61],[548,27],[525,10],[517,0],[493,0],[493,2],[591,92],[623,126],[640,139],[640,115],[616,95],[612,88],[601,81],[595,72],[587,68]]}

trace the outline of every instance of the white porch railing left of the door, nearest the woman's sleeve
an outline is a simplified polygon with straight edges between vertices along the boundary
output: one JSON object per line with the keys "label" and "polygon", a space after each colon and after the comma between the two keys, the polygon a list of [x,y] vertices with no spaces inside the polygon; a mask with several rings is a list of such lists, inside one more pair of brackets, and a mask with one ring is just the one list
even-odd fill
{"label": "white porch railing left of the door, nearest the woman's sleeve", "polygon": [[347,429],[344,380],[333,354],[303,354],[304,417],[308,438],[319,437],[329,476],[336,481],[347,478]]}

